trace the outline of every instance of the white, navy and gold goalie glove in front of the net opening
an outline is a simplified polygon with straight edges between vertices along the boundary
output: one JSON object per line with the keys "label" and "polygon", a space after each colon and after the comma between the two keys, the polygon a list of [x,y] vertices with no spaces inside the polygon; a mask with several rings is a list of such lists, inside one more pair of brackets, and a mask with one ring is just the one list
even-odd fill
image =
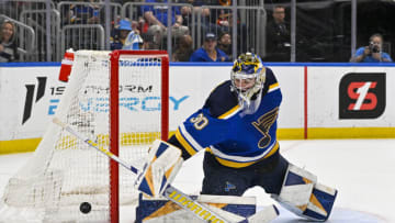
{"label": "white, navy and gold goalie glove in front of the net opening", "polygon": [[156,140],[148,152],[148,157],[139,172],[135,188],[159,198],[179,171],[183,159],[181,150],[163,141]]}

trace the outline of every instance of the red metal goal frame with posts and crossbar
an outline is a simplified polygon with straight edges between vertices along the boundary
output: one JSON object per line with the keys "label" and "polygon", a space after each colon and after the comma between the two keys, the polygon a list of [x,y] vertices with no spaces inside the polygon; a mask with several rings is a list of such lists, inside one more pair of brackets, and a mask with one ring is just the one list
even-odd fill
{"label": "red metal goal frame with posts and crossbar", "polygon": [[[166,51],[113,51],[110,54],[110,150],[119,155],[120,148],[120,58],[122,55],[161,59],[161,140],[169,137],[169,57]],[[110,220],[120,222],[120,167],[110,160]]]}

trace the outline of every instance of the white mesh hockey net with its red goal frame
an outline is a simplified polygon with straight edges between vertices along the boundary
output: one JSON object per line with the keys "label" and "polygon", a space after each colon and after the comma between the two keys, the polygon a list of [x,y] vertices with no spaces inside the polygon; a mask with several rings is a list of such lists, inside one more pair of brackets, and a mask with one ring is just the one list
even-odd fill
{"label": "white mesh hockey net with its red goal frame", "polygon": [[[166,52],[79,51],[56,116],[140,168],[150,143],[168,137],[168,98]],[[119,205],[138,197],[134,179],[50,123],[9,180],[0,214],[11,212],[9,222],[117,222]],[[80,211],[82,202],[91,204],[89,213]]]}

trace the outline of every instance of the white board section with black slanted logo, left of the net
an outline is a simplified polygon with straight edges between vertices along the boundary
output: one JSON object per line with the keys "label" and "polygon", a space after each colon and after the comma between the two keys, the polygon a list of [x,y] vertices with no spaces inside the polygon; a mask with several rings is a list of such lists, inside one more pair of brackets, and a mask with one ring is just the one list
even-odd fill
{"label": "white board section with black slanted logo, left of the net", "polygon": [[65,90],[58,73],[58,66],[0,68],[0,141],[44,134]]}

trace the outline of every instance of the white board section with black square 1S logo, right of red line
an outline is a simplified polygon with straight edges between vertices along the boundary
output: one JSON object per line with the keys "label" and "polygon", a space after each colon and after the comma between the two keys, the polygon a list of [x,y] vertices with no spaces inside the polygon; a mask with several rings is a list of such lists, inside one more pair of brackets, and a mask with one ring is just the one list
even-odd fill
{"label": "white board section with black square 1S logo, right of red line", "polygon": [[391,127],[395,67],[308,67],[308,127]]}

